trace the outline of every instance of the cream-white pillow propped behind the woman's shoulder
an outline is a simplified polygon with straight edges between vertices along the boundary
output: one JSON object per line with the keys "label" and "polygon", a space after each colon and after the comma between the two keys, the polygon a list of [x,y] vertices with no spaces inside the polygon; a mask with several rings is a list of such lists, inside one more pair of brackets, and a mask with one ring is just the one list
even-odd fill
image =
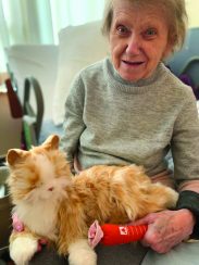
{"label": "cream-white pillow propped behind the woman's shoulder", "polygon": [[108,41],[101,34],[101,22],[69,26],[59,34],[59,62],[52,118],[62,124],[64,104],[74,76],[85,66],[108,55]]}

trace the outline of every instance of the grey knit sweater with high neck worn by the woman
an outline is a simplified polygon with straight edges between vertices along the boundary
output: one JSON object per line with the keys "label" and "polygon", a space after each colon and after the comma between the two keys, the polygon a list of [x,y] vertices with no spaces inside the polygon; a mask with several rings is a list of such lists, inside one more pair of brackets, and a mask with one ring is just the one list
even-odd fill
{"label": "grey knit sweater with high neck worn by the woman", "polygon": [[160,63],[148,79],[122,79],[109,59],[83,70],[65,104],[62,147],[82,168],[98,164],[144,165],[149,176],[167,168],[199,178],[199,121],[191,88]]}

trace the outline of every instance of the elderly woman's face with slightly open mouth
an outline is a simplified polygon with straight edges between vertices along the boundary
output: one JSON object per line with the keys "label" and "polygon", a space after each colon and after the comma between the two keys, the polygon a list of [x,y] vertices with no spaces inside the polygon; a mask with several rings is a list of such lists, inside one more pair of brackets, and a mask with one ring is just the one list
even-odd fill
{"label": "elderly woman's face with slightly open mouth", "polygon": [[110,30],[111,58],[120,76],[129,81],[149,77],[171,51],[164,13],[157,7],[115,1]]}

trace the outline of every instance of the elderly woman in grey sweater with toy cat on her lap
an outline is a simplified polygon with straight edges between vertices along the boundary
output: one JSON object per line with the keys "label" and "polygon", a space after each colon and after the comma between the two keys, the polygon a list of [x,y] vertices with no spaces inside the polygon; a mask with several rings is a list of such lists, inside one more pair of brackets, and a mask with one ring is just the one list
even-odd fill
{"label": "elderly woman in grey sweater with toy cat on her lap", "polygon": [[[188,252],[197,252],[197,244],[182,243],[199,235],[196,100],[162,63],[183,45],[186,20],[184,0],[110,0],[103,33],[111,56],[83,70],[72,84],[62,139],[72,167],[135,163],[144,165],[153,181],[175,184],[179,191],[175,211],[136,222],[148,225],[140,244],[100,245],[98,264],[177,264],[182,255],[191,264]],[[174,173],[165,159],[169,150]],[[43,250],[30,264],[66,261]]]}

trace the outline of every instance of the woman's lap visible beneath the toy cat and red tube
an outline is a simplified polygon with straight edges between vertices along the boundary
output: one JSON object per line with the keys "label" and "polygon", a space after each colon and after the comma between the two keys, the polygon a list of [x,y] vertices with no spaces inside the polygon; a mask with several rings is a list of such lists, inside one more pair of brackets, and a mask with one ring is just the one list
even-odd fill
{"label": "woman's lap visible beneath the toy cat and red tube", "polygon": [[[96,250],[98,265],[199,265],[199,242],[181,243],[166,254],[158,254],[140,244],[115,247],[99,245]],[[142,262],[141,262],[142,261]],[[37,253],[29,265],[67,265],[67,260],[60,257],[54,251],[45,248]]]}

